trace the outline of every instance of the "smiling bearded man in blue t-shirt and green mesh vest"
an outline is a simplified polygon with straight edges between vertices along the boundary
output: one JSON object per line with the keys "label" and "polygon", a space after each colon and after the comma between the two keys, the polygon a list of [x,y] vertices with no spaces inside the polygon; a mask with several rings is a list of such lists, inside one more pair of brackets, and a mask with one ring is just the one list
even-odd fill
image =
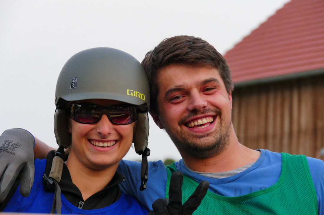
{"label": "smiling bearded man in blue t-shirt and green mesh vest", "polygon": [[[172,172],[183,173],[182,200],[209,181],[194,214],[323,214],[323,161],[253,150],[238,142],[231,121],[231,73],[226,60],[201,38],[176,36],[145,55],[150,114],[182,159],[165,167],[149,162],[145,191],[138,191],[140,163],[122,160],[123,191],[150,207],[168,198]],[[131,177],[132,176],[132,177]]]}

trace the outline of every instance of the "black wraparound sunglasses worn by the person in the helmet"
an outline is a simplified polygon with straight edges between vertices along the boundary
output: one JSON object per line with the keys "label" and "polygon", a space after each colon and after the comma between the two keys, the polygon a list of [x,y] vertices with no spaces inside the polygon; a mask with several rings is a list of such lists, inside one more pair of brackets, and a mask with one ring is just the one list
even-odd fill
{"label": "black wraparound sunglasses worn by the person in the helmet", "polygon": [[95,104],[72,104],[71,118],[84,124],[97,123],[107,114],[113,124],[126,125],[135,122],[137,107],[132,105],[100,106]]}

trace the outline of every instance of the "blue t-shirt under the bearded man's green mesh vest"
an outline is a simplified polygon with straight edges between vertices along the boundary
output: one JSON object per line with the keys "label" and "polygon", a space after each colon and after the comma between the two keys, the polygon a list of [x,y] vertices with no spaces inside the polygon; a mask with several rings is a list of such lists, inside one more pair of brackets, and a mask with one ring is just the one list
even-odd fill
{"label": "blue t-shirt under the bearded man's green mesh vest", "polygon": [[[259,149],[259,159],[248,169],[234,176],[226,178],[210,178],[189,170],[183,160],[176,162],[176,168],[183,174],[193,178],[197,182],[209,181],[209,190],[218,195],[235,197],[264,189],[274,185],[281,174],[281,153]],[[316,189],[318,200],[318,214],[324,214],[324,162],[322,160],[307,157],[310,173]],[[118,171],[126,180],[121,184],[124,193],[133,196],[139,202],[152,210],[152,203],[158,198],[165,198],[167,183],[167,170],[162,161],[148,163],[147,188],[140,191],[141,163],[137,161],[121,160]]]}

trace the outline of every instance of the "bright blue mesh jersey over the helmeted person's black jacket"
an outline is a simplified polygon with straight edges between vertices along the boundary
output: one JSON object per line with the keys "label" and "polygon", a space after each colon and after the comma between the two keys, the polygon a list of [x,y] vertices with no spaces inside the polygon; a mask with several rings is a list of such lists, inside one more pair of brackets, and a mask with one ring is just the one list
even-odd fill
{"label": "bright blue mesh jersey over the helmeted person's black jacket", "polygon": [[[46,191],[43,187],[42,175],[44,174],[46,159],[35,160],[35,179],[31,193],[28,197],[21,196],[19,187],[11,197],[3,212],[24,213],[50,213],[54,192]],[[148,210],[135,199],[121,194],[121,197],[113,204],[95,210],[83,210],[72,205],[61,193],[62,214],[147,214]]]}

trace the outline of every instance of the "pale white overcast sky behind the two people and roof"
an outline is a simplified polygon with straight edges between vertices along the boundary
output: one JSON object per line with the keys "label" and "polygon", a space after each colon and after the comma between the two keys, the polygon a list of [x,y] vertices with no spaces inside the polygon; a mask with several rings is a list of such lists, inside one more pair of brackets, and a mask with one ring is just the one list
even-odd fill
{"label": "pale white overcast sky behind the two people and roof", "polygon": [[[57,147],[54,93],[64,63],[94,47],[118,48],[139,61],[162,39],[200,37],[220,53],[289,0],[1,0],[0,133],[29,130]],[[149,160],[180,159],[168,135],[150,119]],[[126,159],[140,159],[133,149]]]}

